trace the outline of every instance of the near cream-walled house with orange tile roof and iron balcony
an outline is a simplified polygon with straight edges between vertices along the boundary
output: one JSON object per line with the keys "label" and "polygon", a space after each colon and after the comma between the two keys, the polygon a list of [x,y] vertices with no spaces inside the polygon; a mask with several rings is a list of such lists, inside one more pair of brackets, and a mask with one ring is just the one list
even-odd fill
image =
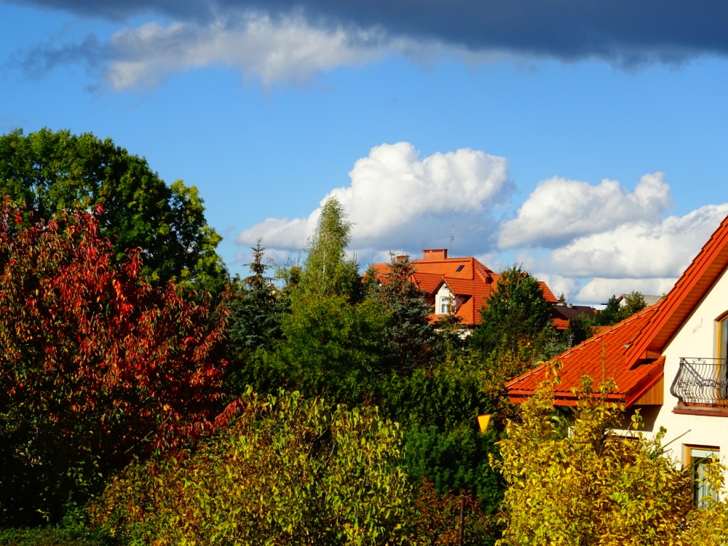
{"label": "near cream-walled house with orange tile roof and iron balcony", "polygon": [[[700,470],[728,454],[728,218],[667,296],[556,357],[555,403],[573,405],[582,376],[614,379],[610,398],[640,409],[647,431],[679,438],[673,456]],[[510,400],[534,393],[546,365],[510,381]]]}

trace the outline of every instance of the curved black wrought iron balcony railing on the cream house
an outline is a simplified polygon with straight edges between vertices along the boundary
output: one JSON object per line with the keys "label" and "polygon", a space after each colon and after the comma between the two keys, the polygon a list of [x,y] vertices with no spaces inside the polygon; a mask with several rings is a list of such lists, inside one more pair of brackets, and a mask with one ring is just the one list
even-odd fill
{"label": "curved black wrought iron balcony railing on the cream house", "polygon": [[728,408],[728,360],[681,358],[670,393],[684,404]]}

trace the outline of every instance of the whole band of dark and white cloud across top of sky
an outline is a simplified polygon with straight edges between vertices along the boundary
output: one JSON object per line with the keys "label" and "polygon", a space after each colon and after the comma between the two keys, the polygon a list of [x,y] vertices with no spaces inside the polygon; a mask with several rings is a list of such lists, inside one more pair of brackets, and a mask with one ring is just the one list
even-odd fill
{"label": "whole band of dark and white cloud across top of sky", "polygon": [[219,65],[264,84],[296,82],[386,55],[419,61],[446,55],[470,63],[600,59],[634,67],[728,54],[728,6],[721,0],[13,3],[120,25],[147,17],[148,23],[121,28],[108,41],[92,35],[77,44],[44,44],[26,55],[28,63],[44,67],[84,60],[115,90],[153,86],[173,71]]}

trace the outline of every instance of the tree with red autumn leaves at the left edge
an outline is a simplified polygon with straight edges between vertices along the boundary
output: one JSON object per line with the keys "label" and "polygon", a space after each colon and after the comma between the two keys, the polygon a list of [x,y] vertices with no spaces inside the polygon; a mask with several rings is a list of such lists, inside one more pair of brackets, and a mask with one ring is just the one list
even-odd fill
{"label": "tree with red autumn leaves at the left edge", "polygon": [[226,312],[119,264],[101,213],[28,227],[0,204],[0,524],[58,518],[220,409]]}

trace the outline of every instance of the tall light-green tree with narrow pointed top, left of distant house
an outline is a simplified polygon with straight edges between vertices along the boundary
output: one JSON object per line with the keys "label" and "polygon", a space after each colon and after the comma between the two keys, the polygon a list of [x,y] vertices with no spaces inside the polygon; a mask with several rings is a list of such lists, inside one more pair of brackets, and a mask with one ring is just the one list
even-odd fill
{"label": "tall light-green tree with narrow pointed top, left of distant house", "polygon": [[306,396],[325,391],[360,403],[381,377],[387,314],[363,298],[357,265],[345,253],[350,229],[339,201],[329,199],[303,269],[290,275],[297,282],[285,290],[290,313],[282,319],[282,340],[261,366],[267,378],[256,384],[264,392],[288,384]]}

